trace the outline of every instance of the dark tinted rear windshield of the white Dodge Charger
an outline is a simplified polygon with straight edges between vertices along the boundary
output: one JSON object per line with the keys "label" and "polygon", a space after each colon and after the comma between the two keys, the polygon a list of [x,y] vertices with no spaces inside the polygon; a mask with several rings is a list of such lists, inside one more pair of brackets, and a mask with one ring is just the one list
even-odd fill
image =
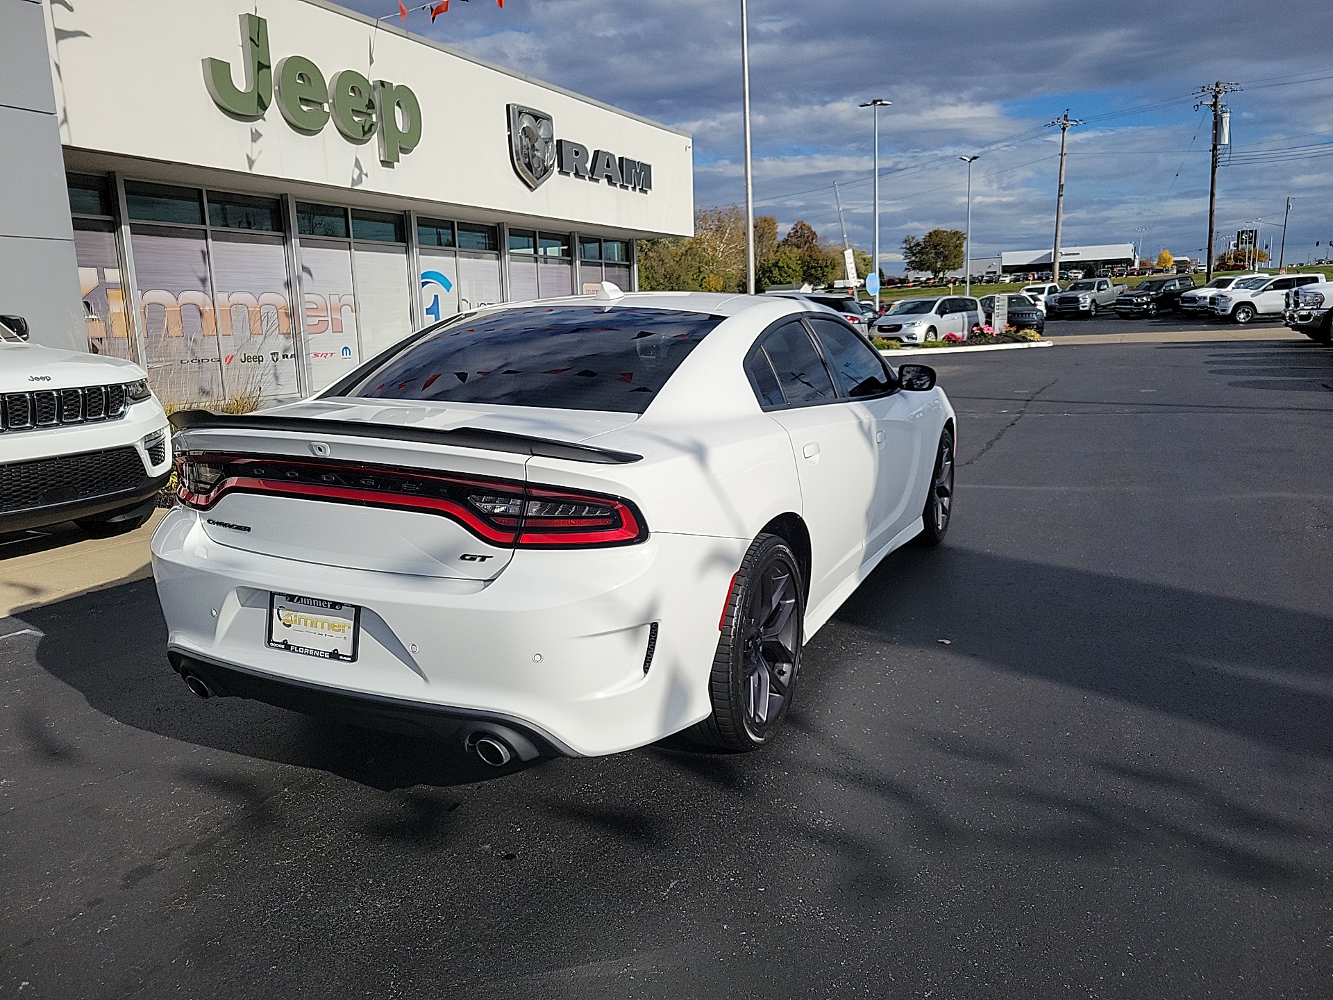
{"label": "dark tinted rear windshield of the white Dodge Charger", "polygon": [[643,413],[724,319],[616,307],[463,316],[343,395]]}

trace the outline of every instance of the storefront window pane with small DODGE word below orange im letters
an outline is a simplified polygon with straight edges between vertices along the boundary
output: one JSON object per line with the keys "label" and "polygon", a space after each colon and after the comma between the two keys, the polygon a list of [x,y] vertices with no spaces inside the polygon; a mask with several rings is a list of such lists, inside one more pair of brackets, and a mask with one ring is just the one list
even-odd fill
{"label": "storefront window pane with small DODGE word below orange im letters", "polygon": [[203,231],[131,232],[148,380],[165,404],[225,399]]}

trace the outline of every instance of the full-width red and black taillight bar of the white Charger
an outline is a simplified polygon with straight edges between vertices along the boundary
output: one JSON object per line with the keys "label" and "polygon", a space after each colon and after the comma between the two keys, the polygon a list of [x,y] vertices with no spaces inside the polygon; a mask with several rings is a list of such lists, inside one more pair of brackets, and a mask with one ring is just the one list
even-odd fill
{"label": "full-width red and black taillight bar of the white Charger", "polygon": [[176,459],[177,496],[207,509],[232,492],[435,513],[493,545],[628,545],[648,537],[628,500],[417,469],[199,452]]}

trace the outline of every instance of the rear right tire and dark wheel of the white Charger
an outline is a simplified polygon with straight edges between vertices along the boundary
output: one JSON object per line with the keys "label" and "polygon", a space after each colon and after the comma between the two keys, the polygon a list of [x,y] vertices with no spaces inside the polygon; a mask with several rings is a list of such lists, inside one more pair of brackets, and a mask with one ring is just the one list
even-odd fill
{"label": "rear right tire and dark wheel of the white Charger", "polygon": [[732,579],[708,680],[713,713],[689,731],[694,743],[746,752],[773,741],[792,704],[804,627],[796,553],[760,535]]}

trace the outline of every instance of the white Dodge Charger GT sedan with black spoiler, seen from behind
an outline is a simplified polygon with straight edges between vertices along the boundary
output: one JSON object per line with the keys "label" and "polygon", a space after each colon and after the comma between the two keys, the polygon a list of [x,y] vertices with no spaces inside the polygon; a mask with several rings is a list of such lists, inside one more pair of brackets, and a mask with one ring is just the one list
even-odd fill
{"label": "white Dodge Charger GT sedan with black spoiler, seen from behind", "polygon": [[491,764],[764,745],[802,643],[953,493],[934,372],[774,296],[493,307],[315,399],[172,419],[153,572],[191,689]]}

